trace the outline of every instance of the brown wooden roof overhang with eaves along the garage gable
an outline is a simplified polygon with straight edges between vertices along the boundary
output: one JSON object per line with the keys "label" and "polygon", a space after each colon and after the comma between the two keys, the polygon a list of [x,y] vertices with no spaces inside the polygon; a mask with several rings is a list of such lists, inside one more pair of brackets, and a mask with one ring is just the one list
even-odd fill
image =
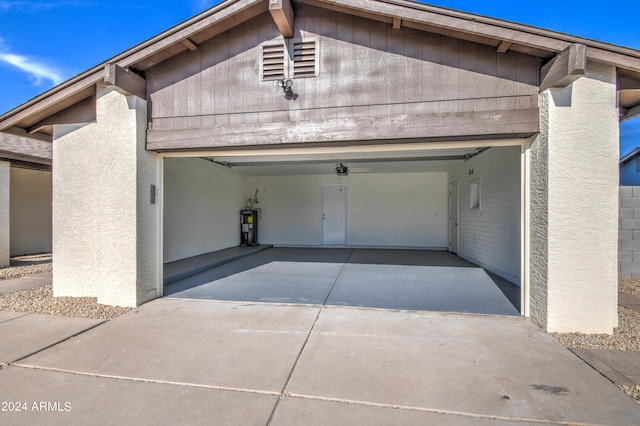
{"label": "brown wooden roof overhang with eaves along the garage gable", "polygon": [[[522,52],[549,61],[571,45],[579,44],[584,46],[587,59],[618,68],[621,118],[640,114],[638,50],[411,1],[293,0],[294,6],[296,3],[385,22],[394,28],[413,28],[481,43],[495,47],[498,52]],[[25,135],[50,139],[53,124],[95,121],[95,111],[92,113],[91,108],[65,109],[81,102],[92,105],[95,85],[107,82],[117,86],[118,72],[127,70],[130,74],[144,75],[148,68],[186,50],[195,50],[205,40],[270,9],[281,32],[286,34],[282,27],[291,28],[295,17],[293,14],[286,17],[275,14],[274,5],[283,4],[289,5],[291,10],[289,0],[226,0],[5,113],[0,116],[0,131],[13,128],[14,133],[24,131]],[[129,77],[134,86],[138,84],[136,80],[143,81],[137,76]]]}

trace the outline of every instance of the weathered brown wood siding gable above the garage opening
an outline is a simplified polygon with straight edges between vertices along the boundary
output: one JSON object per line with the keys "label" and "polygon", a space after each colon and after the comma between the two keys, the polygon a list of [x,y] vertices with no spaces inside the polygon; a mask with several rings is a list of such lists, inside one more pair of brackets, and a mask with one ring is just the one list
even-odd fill
{"label": "weathered brown wood siding gable above the garage opening", "polygon": [[320,52],[317,77],[290,74],[295,100],[260,78],[263,46],[285,43],[269,14],[151,68],[148,148],[513,137],[538,130],[537,57],[306,5],[296,9],[295,33],[317,40]]}

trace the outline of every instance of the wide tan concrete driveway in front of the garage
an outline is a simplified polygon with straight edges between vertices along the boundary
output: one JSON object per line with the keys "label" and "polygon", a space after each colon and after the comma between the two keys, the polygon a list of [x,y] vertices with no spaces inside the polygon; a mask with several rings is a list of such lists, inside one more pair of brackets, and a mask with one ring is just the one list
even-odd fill
{"label": "wide tan concrete driveway in front of the garage", "polygon": [[635,402],[522,317],[185,299],[13,360],[0,395],[27,403],[0,412],[3,425],[640,419]]}

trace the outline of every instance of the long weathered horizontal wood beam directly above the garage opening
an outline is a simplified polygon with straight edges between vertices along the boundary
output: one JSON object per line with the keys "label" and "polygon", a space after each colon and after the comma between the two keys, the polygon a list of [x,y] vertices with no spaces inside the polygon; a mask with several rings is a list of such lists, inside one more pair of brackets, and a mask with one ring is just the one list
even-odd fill
{"label": "long weathered horizontal wood beam directly above the garage opening", "polygon": [[282,121],[204,129],[147,130],[147,149],[208,150],[275,144],[284,146],[527,137],[540,131],[539,114],[538,108],[527,108]]}

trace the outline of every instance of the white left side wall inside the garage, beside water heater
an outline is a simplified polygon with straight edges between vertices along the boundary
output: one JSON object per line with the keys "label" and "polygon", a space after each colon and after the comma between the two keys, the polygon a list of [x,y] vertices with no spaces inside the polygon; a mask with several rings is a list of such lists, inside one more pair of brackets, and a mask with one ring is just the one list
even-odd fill
{"label": "white left side wall inside the garage, beside water heater", "polygon": [[164,262],[238,246],[243,193],[244,177],[226,168],[165,159]]}

